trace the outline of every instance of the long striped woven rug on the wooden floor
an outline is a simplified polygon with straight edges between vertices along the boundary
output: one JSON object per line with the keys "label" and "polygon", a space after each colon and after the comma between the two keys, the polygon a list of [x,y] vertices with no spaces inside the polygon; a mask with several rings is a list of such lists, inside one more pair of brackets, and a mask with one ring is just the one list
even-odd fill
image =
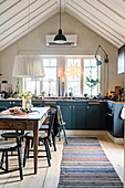
{"label": "long striped woven rug on the wooden floor", "polygon": [[59,188],[123,188],[96,137],[69,137],[64,144]]}

